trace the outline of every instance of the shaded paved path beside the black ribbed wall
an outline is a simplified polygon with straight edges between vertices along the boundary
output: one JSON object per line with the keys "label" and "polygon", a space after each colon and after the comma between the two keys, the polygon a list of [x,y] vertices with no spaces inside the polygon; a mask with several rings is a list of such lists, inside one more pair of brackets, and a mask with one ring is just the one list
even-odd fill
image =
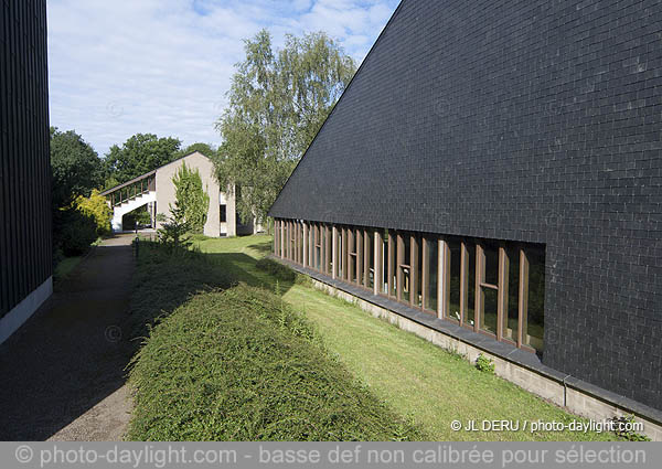
{"label": "shaded paved path beside the black ribbed wall", "polygon": [[130,417],[131,235],[107,239],[0,345],[0,440],[119,439]]}

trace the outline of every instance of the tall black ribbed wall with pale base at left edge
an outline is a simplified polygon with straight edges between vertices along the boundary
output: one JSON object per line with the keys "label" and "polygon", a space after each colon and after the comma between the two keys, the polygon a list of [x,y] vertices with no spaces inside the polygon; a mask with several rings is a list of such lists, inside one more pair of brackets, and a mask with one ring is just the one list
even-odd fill
{"label": "tall black ribbed wall with pale base at left edge", "polygon": [[51,295],[46,2],[0,2],[0,343]]}

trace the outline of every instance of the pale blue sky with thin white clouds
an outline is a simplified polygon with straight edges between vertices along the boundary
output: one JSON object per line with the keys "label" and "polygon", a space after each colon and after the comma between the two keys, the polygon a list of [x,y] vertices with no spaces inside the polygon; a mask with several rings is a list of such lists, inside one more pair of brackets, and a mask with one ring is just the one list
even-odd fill
{"label": "pale blue sky with thin white clouds", "polygon": [[360,64],[398,0],[47,0],[51,125],[104,156],[130,136],[221,143],[244,39],[325,31]]}

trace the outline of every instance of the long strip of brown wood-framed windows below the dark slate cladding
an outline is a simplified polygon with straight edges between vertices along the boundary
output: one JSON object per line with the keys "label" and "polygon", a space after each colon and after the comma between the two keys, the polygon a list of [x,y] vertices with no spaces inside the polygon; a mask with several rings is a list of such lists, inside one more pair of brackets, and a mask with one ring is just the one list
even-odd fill
{"label": "long strip of brown wood-framed windows below the dark slate cladding", "polygon": [[275,252],[284,257],[543,352],[544,246],[301,221],[276,226]]}

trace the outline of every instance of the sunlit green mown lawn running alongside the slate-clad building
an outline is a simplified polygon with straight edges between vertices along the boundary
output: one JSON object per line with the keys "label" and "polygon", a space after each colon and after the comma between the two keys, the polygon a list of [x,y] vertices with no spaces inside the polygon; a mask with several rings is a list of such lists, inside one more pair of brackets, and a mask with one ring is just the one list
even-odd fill
{"label": "sunlit green mown lawn running alongside the slate-clad building", "polygon": [[[271,238],[247,236],[194,242],[238,280],[276,289],[255,267]],[[572,422],[562,408],[500,377],[482,373],[460,356],[373,318],[359,307],[307,285],[279,284],[282,298],[317,328],[325,347],[398,414],[410,417],[434,440],[607,440],[612,434],[452,431],[455,419]]]}

